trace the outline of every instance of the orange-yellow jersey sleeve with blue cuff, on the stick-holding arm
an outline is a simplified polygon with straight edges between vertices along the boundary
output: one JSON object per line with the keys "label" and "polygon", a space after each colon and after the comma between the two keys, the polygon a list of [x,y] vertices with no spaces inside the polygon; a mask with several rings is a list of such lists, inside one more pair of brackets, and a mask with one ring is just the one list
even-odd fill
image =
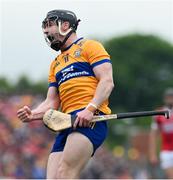
{"label": "orange-yellow jersey sleeve with blue cuff, on the stick-holding arm", "polygon": [[103,63],[111,63],[110,55],[107,53],[101,43],[94,40],[88,40],[85,45],[85,56],[92,68]]}

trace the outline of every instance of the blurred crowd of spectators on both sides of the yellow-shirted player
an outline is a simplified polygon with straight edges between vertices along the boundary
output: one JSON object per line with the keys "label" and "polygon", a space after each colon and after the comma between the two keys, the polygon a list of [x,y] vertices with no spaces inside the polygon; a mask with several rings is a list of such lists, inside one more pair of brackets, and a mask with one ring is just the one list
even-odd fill
{"label": "blurred crowd of spectators on both sides of the yellow-shirted player", "polygon": [[[41,121],[22,123],[17,110],[28,104],[35,107],[41,96],[0,97],[0,178],[45,178],[46,163],[55,133]],[[127,160],[102,146],[90,160],[81,178],[150,178],[145,161]]]}

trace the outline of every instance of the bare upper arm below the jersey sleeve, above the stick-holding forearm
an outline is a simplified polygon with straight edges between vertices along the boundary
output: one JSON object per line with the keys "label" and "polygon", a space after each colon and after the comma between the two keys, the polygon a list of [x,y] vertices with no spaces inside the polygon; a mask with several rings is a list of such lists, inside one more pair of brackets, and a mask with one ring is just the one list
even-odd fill
{"label": "bare upper arm below the jersey sleeve, above the stick-holding forearm", "polygon": [[94,74],[98,80],[105,79],[107,81],[113,82],[113,72],[112,72],[112,64],[107,62],[95,66],[93,68]]}

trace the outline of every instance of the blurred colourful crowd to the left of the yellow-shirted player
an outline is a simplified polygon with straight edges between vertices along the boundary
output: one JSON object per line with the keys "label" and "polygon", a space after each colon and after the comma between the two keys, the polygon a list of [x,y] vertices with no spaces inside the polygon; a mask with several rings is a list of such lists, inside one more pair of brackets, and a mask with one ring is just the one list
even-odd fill
{"label": "blurred colourful crowd to the left of the yellow-shirted player", "polygon": [[36,106],[41,97],[11,96],[0,99],[0,177],[45,178],[53,134],[41,121],[22,123],[16,112],[24,104]]}

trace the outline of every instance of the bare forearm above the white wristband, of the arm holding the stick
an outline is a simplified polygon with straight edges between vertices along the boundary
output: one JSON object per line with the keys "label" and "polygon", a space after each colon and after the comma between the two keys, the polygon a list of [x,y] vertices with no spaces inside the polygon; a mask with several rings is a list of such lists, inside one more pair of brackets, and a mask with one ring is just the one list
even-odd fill
{"label": "bare forearm above the white wristband, of the arm holding the stick", "polygon": [[114,83],[110,79],[102,79],[99,81],[94,98],[91,103],[99,107],[105,100],[107,100],[114,88]]}

